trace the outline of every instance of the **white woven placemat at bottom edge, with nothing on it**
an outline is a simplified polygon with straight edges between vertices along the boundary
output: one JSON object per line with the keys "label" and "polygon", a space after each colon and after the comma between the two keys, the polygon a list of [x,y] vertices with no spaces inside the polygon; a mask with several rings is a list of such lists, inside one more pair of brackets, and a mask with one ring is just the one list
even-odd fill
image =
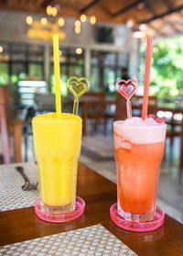
{"label": "white woven placemat at bottom edge, with nothing on it", "polygon": [[0,247],[0,255],[14,256],[135,256],[101,224]]}

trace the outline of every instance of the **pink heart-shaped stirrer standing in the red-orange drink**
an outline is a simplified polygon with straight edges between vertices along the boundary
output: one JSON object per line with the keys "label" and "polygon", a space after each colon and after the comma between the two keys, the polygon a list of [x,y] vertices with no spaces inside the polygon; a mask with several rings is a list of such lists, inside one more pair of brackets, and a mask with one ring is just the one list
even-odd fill
{"label": "pink heart-shaped stirrer standing in the red-orange drink", "polygon": [[115,83],[115,89],[120,94],[123,95],[126,101],[126,110],[127,110],[127,117],[132,117],[132,106],[130,99],[135,94],[135,91],[138,88],[138,83],[135,79],[129,79],[128,81],[119,80]]}

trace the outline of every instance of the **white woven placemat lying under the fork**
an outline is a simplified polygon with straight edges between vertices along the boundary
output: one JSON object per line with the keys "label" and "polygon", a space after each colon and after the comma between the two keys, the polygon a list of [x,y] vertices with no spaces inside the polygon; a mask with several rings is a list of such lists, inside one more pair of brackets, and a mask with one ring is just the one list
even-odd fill
{"label": "white woven placemat lying under the fork", "polygon": [[16,166],[24,167],[31,181],[38,181],[38,167],[34,162],[0,165],[0,211],[34,206],[38,198],[38,190],[22,190],[22,185],[25,182],[21,175],[16,172]]}

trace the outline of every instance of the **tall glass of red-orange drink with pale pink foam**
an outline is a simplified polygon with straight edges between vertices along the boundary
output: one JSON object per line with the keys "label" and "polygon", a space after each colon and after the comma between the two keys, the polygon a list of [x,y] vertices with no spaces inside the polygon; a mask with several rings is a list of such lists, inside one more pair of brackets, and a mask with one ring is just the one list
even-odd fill
{"label": "tall glass of red-orange drink with pale pink foam", "polygon": [[165,123],[132,117],[113,123],[118,214],[126,220],[154,218],[159,167],[164,154]]}

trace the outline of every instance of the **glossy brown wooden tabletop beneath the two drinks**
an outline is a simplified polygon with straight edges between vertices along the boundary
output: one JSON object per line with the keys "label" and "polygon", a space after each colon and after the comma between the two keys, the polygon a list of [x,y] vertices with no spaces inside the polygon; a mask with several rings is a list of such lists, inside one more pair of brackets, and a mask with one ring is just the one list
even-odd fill
{"label": "glossy brown wooden tabletop beneath the two drinks", "polygon": [[132,232],[118,228],[109,209],[116,202],[116,184],[79,164],[78,192],[86,203],[84,214],[68,223],[56,224],[39,219],[33,207],[0,212],[0,245],[36,239],[76,228],[101,223],[138,255],[183,255],[183,225],[166,215],[161,228],[150,232]]}

